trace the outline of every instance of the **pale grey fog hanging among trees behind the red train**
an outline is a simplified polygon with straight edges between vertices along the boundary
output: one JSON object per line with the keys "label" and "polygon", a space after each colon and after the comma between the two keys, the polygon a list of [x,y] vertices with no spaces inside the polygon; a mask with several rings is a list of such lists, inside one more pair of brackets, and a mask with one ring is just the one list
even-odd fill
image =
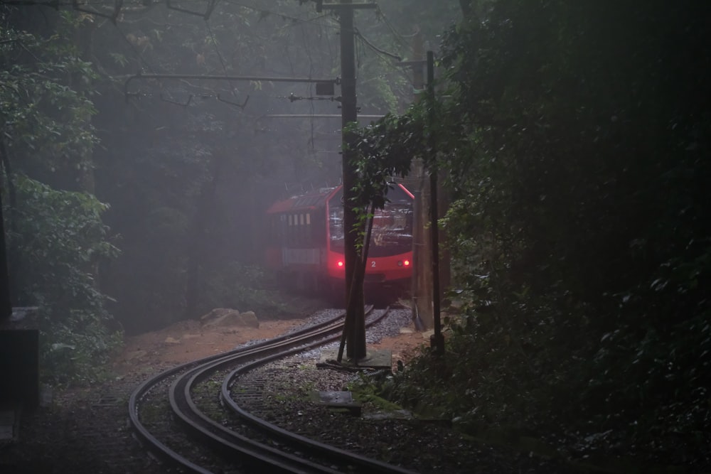
{"label": "pale grey fog hanging among trees behind the red train", "polygon": [[[303,3],[225,1],[208,11],[197,1],[133,1],[8,14],[38,38],[56,33],[49,58],[85,62],[65,79],[94,109],[77,126],[95,146],[77,148],[60,172],[47,162],[23,171],[108,205],[102,222],[117,255],[98,259],[94,277],[127,333],[268,304],[264,210],[341,182],[341,87],[316,95],[313,82],[340,76],[338,18]],[[418,31],[436,44],[456,11],[416,3],[385,0],[355,15],[359,114],[402,112],[414,99],[412,71],[395,58],[412,58]]]}

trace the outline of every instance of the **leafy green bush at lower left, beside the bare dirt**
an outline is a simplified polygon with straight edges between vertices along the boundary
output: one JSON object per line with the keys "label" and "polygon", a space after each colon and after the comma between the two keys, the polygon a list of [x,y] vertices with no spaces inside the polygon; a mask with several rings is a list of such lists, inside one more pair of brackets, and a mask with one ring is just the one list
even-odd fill
{"label": "leafy green bush at lower left, beside the bare dirt", "polygon": [[120,333],[108,329],[107,296],[95,281],[97,263],[118,253],[105,240],[101,214],[107,205],[22,175],[16,186],[16,222],[8,244],[21,266],[11,278],[21,291],[17,303],[38,306],[43,377],[90,382],[120,342]]}

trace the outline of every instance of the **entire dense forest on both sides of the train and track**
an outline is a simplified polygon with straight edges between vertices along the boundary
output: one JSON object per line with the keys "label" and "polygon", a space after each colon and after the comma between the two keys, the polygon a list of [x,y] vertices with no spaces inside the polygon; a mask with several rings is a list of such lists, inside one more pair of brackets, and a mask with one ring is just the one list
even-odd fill
{"label": "entire dense forest on both sides of the train and track", "polygon": [[[340,178],[340,121],[313,118],[332,97],[196,78],[337,77],[332,13],[117,5],[0,6],[11,294],[55,382],[98,377],[124,332],[270,304],[262,212]],[[618,472],[711,470],[711,5],[378,5],[356,15],[360,113],[386,114],[358,127],[359,185],[436,167],[452,269],[444,355],[378,392]],[[431,94],[399,64],[418,41]]]}

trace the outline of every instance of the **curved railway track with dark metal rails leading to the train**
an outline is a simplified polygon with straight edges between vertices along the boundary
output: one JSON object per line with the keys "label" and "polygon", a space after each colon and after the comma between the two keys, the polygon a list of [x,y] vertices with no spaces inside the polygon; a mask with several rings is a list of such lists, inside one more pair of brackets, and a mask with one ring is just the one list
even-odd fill
{"label": "curved railway track with dark metal rails leading to the train", "polygon": [[[367,308],[370,314],[373,308]],[[387,315],[370,314],[367,325]],[[410,473],[395,465],[311,440],[270,424],[235,399],[261,397],[240,377],[255,367],[337,340],[343,314],[309,328],[178,365],[147,379],[129,399],[139,442],[186,473]],[[240,397],[234,397],[237,390]]]}

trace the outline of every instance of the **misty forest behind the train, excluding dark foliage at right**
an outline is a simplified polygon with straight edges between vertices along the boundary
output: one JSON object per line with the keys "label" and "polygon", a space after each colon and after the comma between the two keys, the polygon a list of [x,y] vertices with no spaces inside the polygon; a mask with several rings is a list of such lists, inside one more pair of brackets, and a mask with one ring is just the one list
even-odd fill
{"label": "misty forest behind the train, excluding dark foliage at right", "polygon": [[[123,331],[269,305],[264,210],[341,180],[336,97],[311,82],[195,78],[336,79],[336,16],[296,0],[210,14],[206,1],[144,3],[1,10],[12,300],[38,306],[43,367],[59,378],[94,377]],[[434,43],[459,14],[412,6],[386,1],[358,23],[362,114],[405,110],[405,35]],[[303,118],[318,114],[335,118]]]}

